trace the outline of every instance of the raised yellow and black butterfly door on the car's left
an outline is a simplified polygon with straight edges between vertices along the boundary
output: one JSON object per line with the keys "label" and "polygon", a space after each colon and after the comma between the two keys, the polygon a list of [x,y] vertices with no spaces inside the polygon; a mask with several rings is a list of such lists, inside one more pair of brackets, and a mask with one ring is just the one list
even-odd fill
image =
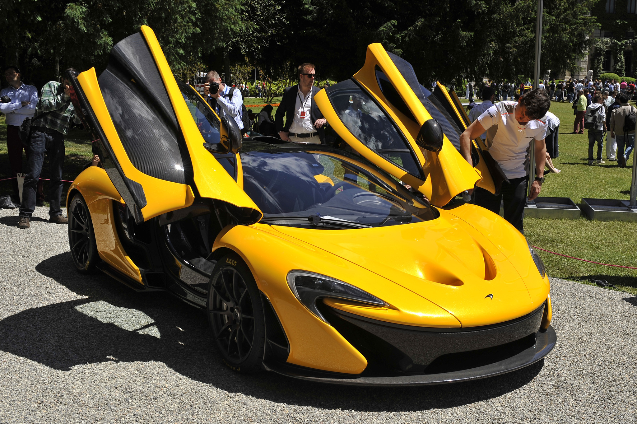
{"label": "raised yellow and black butterfly door on the car's left", "polygon": [[233,207],[241,223],[261,211],[208,152],[150,27],[111,50],[108,67],[71,78],[79,114],[136,222],[190,206],[196,197]]}

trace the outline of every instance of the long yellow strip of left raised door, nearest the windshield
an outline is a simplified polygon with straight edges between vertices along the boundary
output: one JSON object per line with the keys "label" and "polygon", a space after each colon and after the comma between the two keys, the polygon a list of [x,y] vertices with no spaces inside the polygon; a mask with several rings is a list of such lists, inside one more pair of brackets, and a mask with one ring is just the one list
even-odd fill
{"label": "long yellow strip of left raised door, nearest the windshield", "polygon": [[[190,153],[192,162],[193,180],[201,197],[219,199],[237,206],[258,211],[257,221],[261,219],[261,212],[257,205],[248,197],[237,182],[224,170],[219,162],[203,146],[203,138],[197,125],[192,119],[192,114],[183,100],[183,95],[175,81],[175,77],[168,66],[166,57],[159,46],[159,41],[150,27],[142,25],[141,33],[148,43],[157,69],[168,92],[175,115],[178,120],[183,138]],[[222,128],[222,137],[225,129]],[[243,178],[243,175],[241,175]]]}

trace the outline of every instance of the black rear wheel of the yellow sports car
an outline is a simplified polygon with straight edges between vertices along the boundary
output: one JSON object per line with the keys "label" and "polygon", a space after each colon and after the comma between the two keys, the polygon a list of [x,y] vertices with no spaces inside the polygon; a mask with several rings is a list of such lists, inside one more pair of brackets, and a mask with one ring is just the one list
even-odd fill
{"label": "black rear wheel of the yellow sports car", "polygon": [[73,264],[78,271],[89,274],[95,271],[99,260],[93,223],[89,207],[82,195],[76,194],[69,204],[69,246]]}

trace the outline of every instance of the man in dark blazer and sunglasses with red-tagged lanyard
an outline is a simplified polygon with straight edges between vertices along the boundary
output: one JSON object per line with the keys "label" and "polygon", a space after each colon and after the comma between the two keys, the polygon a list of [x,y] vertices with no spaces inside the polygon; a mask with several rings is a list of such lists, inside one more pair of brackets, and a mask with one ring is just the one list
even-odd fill
{"label": "man in dark blazer and sunglasses with red-tagged lanyard", "polygon": [[[314,65],[304,63],[297,68],[299,83],[285,88],[281,104],[276,110],[276,131],[283,141],[295,143],[322,143],[323,125],[327,120],[318,110],[314,95],[319,88],[314,87],[316,72]],[[285,125],[283,125],[285,115]]]}

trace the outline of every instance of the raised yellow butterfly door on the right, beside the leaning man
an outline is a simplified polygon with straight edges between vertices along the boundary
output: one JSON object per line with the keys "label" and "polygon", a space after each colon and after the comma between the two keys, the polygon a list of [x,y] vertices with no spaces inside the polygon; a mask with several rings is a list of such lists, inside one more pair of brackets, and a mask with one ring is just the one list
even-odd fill
{"label": "raised yellow butterfly door on the right, beside the leaning man", "polygon": [[315,101],[338,138],[435,206],[481,178],[459,153],[448,112],[419,84],[412,66],[380,43],[368,46],[354,78],[321,90]]}

